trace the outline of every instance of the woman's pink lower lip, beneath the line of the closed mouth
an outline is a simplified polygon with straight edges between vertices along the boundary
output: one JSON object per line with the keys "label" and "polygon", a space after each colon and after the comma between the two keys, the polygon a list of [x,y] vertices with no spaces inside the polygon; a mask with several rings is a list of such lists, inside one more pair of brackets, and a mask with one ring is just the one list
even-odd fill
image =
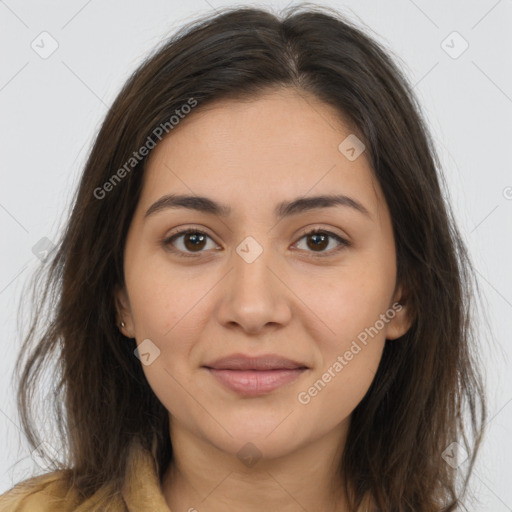
{"label": "woman's pink lower lip, beneath the line of the closed mouth", "polygon": [[265,395],[297,379],[306,368],[295,370],[207,370],[224,386],[246,396]]}

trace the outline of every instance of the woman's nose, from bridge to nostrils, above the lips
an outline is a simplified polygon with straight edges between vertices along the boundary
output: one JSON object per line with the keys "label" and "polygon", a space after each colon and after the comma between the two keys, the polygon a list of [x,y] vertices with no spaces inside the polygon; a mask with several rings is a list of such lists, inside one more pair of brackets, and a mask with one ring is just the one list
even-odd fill
{"label": "woman's nose, from bridge to nostrils, above the lips", "polygon": [[293,293],[286,286],[279,262],[268,248],[253,260],[255,254],[250,252],[263,249],[258,246],[253,240],[233,251],[231,271],[223,279],[224,293],[217,311],[222,325],[231,329],[238,326],[249,334],[283,327],[291,318]]}

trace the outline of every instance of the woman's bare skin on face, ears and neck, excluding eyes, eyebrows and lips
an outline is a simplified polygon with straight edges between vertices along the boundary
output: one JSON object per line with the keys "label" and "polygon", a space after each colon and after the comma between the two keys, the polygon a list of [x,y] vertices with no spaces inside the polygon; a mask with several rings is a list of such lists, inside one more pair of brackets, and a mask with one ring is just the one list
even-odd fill
{"label": "woman's bare skin on face, ears and neck, excluding eyes, eyebrows and lips", "polygon": [[[351,413],[384,344],[410,326],[407,307],[359,343],[308,404],[298,394],[400,301],[385,199],[366,154],[350,161],[338,150],[348,124],[316,98],[281,89],[199,108],[150,155],[125,247],[126,288],[116,293],[122,332],[160,350],[142,368],[170,413],[164,497],[173,512],[348,510],[336,471]],[[144,219],[170,193],[207,196],[232,212],[165,209]],[[281,201],[323,194],[350,196],[370,217],[346,206],[274,217]],[[189,227],[210,238],[195,253],[186,235],[174,247],[199,256],[162,244]],[[336,251],[329,238],[315,249],[304,236],[313,228],[350,246]],[[236,252],[248,236],[263,249],[252,263]],[[309,369],[267,395],[240,396],[202,368],[236,352],[279,354]],[[246,443],[261,457],[252,466],[237,456]]]}

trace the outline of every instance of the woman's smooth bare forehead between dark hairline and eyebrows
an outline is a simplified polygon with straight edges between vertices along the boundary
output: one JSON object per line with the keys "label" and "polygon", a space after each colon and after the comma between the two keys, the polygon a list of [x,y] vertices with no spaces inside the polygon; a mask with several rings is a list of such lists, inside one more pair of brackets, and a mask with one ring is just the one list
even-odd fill
{"label": "woman's smooth bare forehead between dark hairline and eyebrows", "polygon": [[375,211],[382,197],[366,154],[350,161],[339,149],[352,133],[333,107],[290,89],[199,105],[152,151],[141,203],[176,192],[257,209],[344,193]]}

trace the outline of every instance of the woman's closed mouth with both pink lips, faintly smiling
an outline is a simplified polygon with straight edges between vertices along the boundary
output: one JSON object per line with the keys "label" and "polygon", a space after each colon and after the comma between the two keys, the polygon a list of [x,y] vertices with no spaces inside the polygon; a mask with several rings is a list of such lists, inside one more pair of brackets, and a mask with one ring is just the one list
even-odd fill
{"label": "woman's closed mouth with both pink lips, faintly smiling", "polygon": [[276,355],[244,354],[218,359],[203,366],[223,386],[243,396],[260,396],[298,379],[309,367]]}

